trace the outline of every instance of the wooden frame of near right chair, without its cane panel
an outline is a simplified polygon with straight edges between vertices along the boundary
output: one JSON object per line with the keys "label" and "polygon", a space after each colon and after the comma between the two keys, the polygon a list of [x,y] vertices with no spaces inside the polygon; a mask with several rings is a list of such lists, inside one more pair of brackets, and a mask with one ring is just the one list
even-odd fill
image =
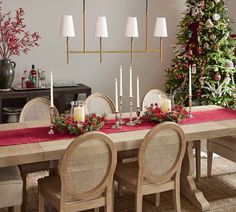
{"label": "wooden frame of near right chair, without its cane panel", "polygon": [[[172,167],[167,170],[164,174],[153,176],[148,172],[145,167],[144,157],[148,144],[152,141],[152,138],[160,133],[162,130],[171,129],[177,132],[180,141],[180,148],[178,155]],[[144,195],[147,194],[157,194],[156,195],[156,205],[159,204],[160,192],[173,190],[174,195],[174,207],[176,211],[181,211],[180,206],[180,171],[182,160],[184,157],[186,149],[185,135],[181,127],[175,123],[162,123],[154,127],[145,136],[141,147],[139,149],[138,155],[138,165],[136,169],[130,170],[130,176],[127,177],[122,170],[125,166],[130,166],[131,163],[119,164],[115,172],[115,180],[121,185],[126,187],[128,190],[136,193],[136,212],[142,212],[142,199]],[[138,171],[136,171],[138,169]],[[134,174],[132,174],[134,173]],[[135,176],[135,173],[137,176]],[[123,177],[122,177],[123,176]],[[130,181],[129,181],[130,179]],[[135,183],[136,182],[136,183]]]}

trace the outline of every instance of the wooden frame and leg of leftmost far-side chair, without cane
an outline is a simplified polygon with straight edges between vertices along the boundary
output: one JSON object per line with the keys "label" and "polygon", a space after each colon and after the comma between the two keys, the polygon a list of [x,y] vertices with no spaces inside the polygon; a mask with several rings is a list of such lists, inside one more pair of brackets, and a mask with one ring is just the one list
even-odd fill
{"label": "wooden frame and leg of leftmost far-side chair, without cane", "polygon": [[[50,107],[50,101],[45,97],[36,97],[34,99],[31,99],[28,101],[25,106],[23,107],[21,114],[20,114],[20,123],[25,121],[34,121],[34,120],[26,120],[25,116],[29,112],[29,109],[31,107],[34,107],[34,105],[37,105],[38,103],[45,104],[48,107]],[[59,116],[59,112],[56,107],[54,107],[54,112],[56,116]],[[50,114],[48,116],[48,119],[50,119]],[[54,162],[54,163],[53,163]],[[45,161],[45,162],[38,162],[33,164],[24,164],[20,165],[21,175],[23,179],[23,202],[22,202],[22,210],[26,210],[26,178],[27,174],[38,172],[38,171],[45,171],[49,170],[52,171],[54,168],[57,168],[57,161]]]}

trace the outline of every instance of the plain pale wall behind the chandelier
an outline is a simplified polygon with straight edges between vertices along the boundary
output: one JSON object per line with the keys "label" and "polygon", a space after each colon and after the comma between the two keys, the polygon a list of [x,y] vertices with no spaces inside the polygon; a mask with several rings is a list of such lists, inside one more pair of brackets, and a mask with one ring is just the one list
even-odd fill
{"label": "plain pale wall behind the chandelier", "polygon": [[[164,61],[161,64],[159,53],[135,54],[133,62],[134,75],[140,77],[141,97],[151,88],[164,88],[164,70],[171,64],[172,47],[176,43],[177,25],[185,9],[184,0],[150,0],[150,48],[159,48],[159,40],[152,38],[156,16],[166,16],[169,37],[164,39]],[[232,18],[235,1],[227,0]],[[87,49],[99,48],[98,39],[93,37],[96,16],[107,16],[109,38],[104,39],[104,49],[128,49],[129,39],[123,36],[127,16],[137,16],[140,37],[135,39],[135,49],[144,48],[144,0],[86,0],[87,6]],[[65,39],[59,37],[60,17],[72,14],[76,28],[76,38],[72,38],[71,50],[82,49],[82,0],[10,0],[4,1],[3,10],[14,10],[22,7],[25,10],[25,23],[30,32],[38,31],[42,37],[39,48],[33,48],[28,55],[12,58],[17,63],[14,84],[20,84],[24,70],[32,64],[49,72],[54,71],[55,80],[74,80],[84,83],[92,91],[106,92],[114,96],[114,78],[119,76],[119,66],[125,69],[124,95],[128,96],[128,54],[104,55],[104,62],[99,63],[99,55],[72,55],[71,63],[66,64]],[[235,24],[233,25],[236,29]],[[234,30],[236,31],[236,30]],[[127,101],[126,101],[127,102]]]}

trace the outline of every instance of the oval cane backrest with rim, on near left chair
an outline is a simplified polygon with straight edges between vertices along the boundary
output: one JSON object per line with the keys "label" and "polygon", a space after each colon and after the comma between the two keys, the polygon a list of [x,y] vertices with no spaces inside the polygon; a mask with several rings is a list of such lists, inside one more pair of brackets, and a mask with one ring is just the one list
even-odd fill
{"label": "oval cane backrest with rim, on near left chair", "polygon": [[61,161],[62,199],[96,198],[113,183],[117,152],[112,140],[101,132],[77,137]]}

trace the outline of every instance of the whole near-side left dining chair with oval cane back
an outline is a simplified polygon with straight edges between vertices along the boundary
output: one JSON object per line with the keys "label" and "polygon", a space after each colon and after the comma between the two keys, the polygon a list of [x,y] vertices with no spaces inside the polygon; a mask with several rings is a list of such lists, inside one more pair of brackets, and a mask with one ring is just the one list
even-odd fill
{"label": "whole near-side left dining chair with oval cane back", "polygon": [[117,151],[101,132],[77,137],[60,163],[60,176],[39,179],[39,212],[48,202],[60,212],[83,211],[105,206],[113,211],[113,176]]}

